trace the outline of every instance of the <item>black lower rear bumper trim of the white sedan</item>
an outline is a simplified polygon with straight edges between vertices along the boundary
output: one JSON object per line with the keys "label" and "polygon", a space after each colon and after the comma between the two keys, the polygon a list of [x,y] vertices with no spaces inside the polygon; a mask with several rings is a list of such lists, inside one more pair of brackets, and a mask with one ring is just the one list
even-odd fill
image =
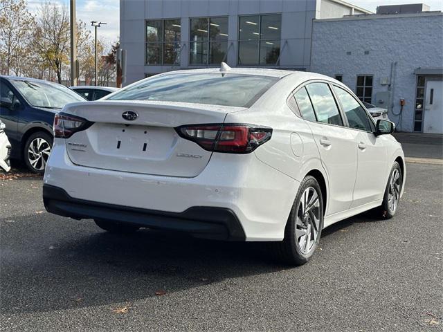
{"label": "black lower rear bumper trim of the white sedan", "polygon": [[62,188],[43,186],[43,201],[48,212],[73,219],[106,219],[146,228],[188,232],[195,237],[245,241],[242,225],[226,208],[195,206],[184,212],[163,212],[122,205],[74,199]]}

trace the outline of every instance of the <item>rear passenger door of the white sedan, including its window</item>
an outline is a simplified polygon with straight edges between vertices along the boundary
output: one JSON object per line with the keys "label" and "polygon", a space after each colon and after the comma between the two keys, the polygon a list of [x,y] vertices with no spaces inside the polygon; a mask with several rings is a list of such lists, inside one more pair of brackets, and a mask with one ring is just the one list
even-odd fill
{"label": "rear passenger door of the white sedan, including its window", "polygon": [[[329,184],[326,215],[350,208],[357,171],[354,133],[344,127],[334,95],[326,82],[312,82],[295,93],[300,112],[309,123]],[[314,109],[314,116],[306,108]],[[306,114],[311,114],[306,116]]]}

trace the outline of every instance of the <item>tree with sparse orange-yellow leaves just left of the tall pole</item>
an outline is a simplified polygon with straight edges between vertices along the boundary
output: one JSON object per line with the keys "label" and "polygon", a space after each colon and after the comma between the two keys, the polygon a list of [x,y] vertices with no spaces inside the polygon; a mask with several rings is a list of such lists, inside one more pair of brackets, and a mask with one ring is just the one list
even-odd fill
{"label": "tree with sparse orange-yellow leaves just left of the tall pole", "polygon": [[42,3],[37,12],[37,27],[33,45],[39,56],[62,82],[62,65],[69,64],[69,13],[58,3]]}

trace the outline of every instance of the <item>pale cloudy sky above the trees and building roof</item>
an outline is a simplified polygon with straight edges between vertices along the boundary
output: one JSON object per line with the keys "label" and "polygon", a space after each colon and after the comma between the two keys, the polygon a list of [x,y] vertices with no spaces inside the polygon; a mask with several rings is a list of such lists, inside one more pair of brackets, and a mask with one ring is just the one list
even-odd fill
{"label": "pale cloudy sky above the trees and building roof", "polygon": [[[59,3],[64,3],[69,8],[69,0],[52,0]],[[122,1],[143,1],[143,0],[122,0]],[[151,0],[155,1],[155,0]],[[204,1],[204,0],[202,0]],[[227,1],[227,0],[226,0]],[[254,0],[250,0],[254,1]],[[294,0],[297,1],[297,0]],[[371,10],[375,12],[377,6],[380,5],[396,5],[401,3],[426,3],[431,6],[431,10],[443,10],[443,0],[345,0],[353,3],[356,6]],[[44,0],[28,0],[28,6],[31,11],[35,11]],[[119,10],[120,0],[77,0],[77,19],[86,22],[91,28],[91,21],[106,22],[107,25],[98,28],[99,37],[105,39],[108,46],[116,41],[119,36]]]}

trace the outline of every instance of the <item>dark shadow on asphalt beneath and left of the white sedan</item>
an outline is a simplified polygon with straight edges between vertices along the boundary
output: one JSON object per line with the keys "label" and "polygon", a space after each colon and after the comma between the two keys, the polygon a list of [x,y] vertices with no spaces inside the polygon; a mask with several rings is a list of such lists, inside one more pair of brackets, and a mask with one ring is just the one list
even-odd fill
{"label": "dark shadow on asphalt beneath and left of the white sedan", "polygon": [[263,243],[205,241],[154,230],[114,235],[93,229],[95,233],[90,225],[89,232],[71,228],[71,236],[58,238],[56,231],[28,234],[28,243],[42,243],[47,236],[54,244],[2,250],[1,312],[130,304],[159,292],[168,295],[219,282],[221,291],[229,291],[226,283],[236,277],[284,268],[264,259]]}

